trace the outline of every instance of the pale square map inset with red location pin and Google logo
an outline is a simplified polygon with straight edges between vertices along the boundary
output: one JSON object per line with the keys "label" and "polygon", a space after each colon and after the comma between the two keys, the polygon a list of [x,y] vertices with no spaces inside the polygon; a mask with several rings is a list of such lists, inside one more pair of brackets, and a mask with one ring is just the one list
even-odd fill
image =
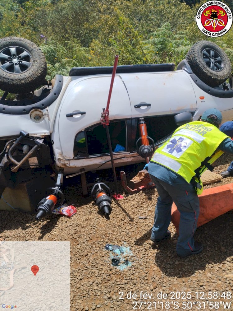
{"label": "pale square map inset with red location pin and Google logo", "polygon": [[70,242],[0,242],[0,311],[69,311]]}

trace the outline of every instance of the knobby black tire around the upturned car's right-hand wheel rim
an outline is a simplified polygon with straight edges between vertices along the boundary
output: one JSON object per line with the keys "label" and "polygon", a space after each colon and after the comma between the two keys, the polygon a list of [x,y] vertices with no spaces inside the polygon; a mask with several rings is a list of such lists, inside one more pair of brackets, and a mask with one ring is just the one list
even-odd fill
{"label": "knobby black tire around the upturned car's right-hand wheel rim", "polygon": [[[222,68],[211,69],[203,60],[203,51],[212,50],[221,58]],[[206,57],[206,56],[205,56]],[[216,58],[217,59],[217,58]],[[201,40],[196,42],[186,55],[186,60],[192,71],[208,86],[219,86],[231,74],[231,62],[226,53],[215,43]],[[207,62],[207,59],[205,59]],[[214,59],[213,59],[214,61]],[[211,62],[210,62],[211,63]]]}

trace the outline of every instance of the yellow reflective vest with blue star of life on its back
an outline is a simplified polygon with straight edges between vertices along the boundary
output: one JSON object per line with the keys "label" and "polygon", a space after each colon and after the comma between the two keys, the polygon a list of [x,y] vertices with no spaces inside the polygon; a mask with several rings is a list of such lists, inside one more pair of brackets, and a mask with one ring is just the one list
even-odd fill
{"label": "yellow reflective vest with blue star of life on its back", "polygon": [[186,123],[153,154],[151,162],[167,167],[188,183],[196,183],[197,193],[203,190],[200,175],[223,151],[216,149],[228,136],[204,121]]}

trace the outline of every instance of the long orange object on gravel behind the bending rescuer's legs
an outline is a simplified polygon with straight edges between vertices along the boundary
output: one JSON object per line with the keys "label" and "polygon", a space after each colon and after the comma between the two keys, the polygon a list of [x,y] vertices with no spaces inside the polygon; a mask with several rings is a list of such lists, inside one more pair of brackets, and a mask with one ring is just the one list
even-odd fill
{"label": "long orange object on gravel behind the bending rescuer's legs", "polygon": [[[197,221],[197,226],[201,226],[208,221],[233,210],[233,183],[205,189],[198,196],[200,202],[200,213]],[[171,207],[171,221],[176,227],[176,232],[179,234],[180,212],[175,203]]]}

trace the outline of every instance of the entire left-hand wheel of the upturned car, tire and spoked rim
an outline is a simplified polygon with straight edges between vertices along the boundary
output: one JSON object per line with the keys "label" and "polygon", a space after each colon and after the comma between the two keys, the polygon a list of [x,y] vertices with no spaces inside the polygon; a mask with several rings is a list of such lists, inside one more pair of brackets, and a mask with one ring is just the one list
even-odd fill
{"label": "entire left-hand wheel of the upturned car, tire and spoked rim", "polygon": [[44,83],[46,60],[39,47],[18,37],[0,39],[0,89],[10,93],[34,91]]}

